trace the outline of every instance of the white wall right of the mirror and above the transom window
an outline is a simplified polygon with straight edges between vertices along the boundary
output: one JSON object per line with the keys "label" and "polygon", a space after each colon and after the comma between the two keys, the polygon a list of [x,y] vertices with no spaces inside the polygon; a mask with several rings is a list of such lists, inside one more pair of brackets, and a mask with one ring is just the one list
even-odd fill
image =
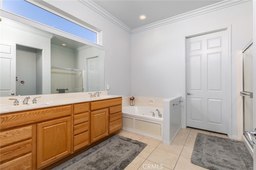
{"label": "white wall right of the mirror and above the transom window", "polygon": [[131,35],[79,1],[45,1],[102,30],[105,85],[111,86],[108,94],[131,95]]}

